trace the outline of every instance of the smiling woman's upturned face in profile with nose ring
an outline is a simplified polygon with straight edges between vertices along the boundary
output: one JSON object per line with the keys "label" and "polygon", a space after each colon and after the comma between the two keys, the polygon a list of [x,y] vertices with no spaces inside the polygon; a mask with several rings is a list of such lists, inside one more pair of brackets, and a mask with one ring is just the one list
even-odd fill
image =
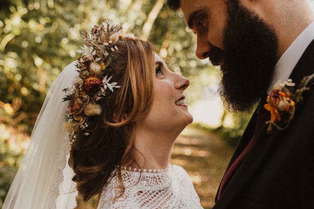
{"label": "smiling woman's upturned face in profile with nose ring", "polygon": [[189,80],[171,72],[164,60],[156,53],[156,81],[153,104],[148,115],[138,125],[160,131],[182,131],[192,123],[193,117],[185,104],[184,90],[189,86]]}

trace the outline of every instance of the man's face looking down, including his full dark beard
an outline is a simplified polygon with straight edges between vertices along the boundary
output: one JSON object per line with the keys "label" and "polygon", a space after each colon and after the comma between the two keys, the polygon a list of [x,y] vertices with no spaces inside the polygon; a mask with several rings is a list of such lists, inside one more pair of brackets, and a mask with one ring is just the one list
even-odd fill
{"label": "man's face looking down, including his full dark beard", "polygon": [[220,65],[219,94],[229,111],[248,111],[271,81],[277,62],[272,26],[238,0],[181,0],[189,28],[197,34],[196,55]]}

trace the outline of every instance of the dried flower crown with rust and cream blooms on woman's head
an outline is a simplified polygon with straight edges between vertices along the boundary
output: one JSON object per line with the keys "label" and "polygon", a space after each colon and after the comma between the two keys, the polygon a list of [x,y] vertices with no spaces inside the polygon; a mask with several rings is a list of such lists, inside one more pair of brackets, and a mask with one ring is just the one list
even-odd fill
{"label": "dried flower crown with rust and cream blooms on woman's head", "polygon": [[108,89],[113,92],[116,82],[109,83],[112,76],[108,78],[111,69],[108,67],[115,59],[113,52],[118,50],[115,45],[121,39],[135,39],[133,34],[123,34],[122,27],[118,24],[111,25],[111,20],[102,22],[101,25],[94,25],[91,33],[81,32],[85,45],[81,57],[77,58],[75,67],[79,75],[74,86],[63,89],[69,94],[63,101],[70,101],[67,117],[69,121],[64,123],[63,128],[70,133],[72,143],[75,138],[75,130],[85,130],[84,135],[88,136],[91,130],[88,128],[88,119],[91,116],[100,115],[101,107],[98,101],[104,98]]}

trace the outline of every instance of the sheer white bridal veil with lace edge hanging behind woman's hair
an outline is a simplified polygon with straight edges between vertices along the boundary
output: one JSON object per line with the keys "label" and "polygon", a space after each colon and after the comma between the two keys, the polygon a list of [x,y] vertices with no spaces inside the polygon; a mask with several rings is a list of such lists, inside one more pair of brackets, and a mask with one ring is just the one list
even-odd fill
{"label": "sheer white bridal veil with lace edge hanging behind woman's hair", "polygon": [[62,89],[74,85],[78,76],[74,64],[65,67],[48,91],[3,209],[76,206],[74,172],[68,165],[70,144],[62,129],[69,106],[69,101],[62,102],[66,95]]}

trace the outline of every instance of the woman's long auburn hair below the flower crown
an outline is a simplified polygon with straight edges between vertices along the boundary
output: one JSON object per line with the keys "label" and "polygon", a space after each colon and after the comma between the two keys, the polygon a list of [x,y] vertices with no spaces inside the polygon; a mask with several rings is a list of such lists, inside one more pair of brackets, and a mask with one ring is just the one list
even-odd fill
{"label": "woman's long auburn hair below the flower crown", "polygon": [[73,168],[79,196],[84,201],[97,197],[112,175],[119,180],[119,195],[124,193],[121,169],[116,166],[138,165],[132,158],[135,125],[152,106],[155,81],[153,44],[138,40],[118,40],[119,50],[110,63],[111,81],[120,88],[100,99],[102,112],[89,118],[88,136],[79,129],[70,151],[69,165]]}

